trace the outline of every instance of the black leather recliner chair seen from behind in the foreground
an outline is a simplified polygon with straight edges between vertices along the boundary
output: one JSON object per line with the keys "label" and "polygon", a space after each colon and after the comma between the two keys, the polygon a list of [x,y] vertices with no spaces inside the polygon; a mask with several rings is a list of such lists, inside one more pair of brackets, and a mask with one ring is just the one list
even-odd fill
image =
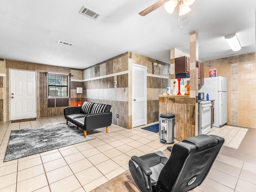
{"label": "black leather recliner chair seen from behind in the foreground", "polygon": [[174,144],[170,158],[158,151],[132,156],[129,169],[142,192],[186,192],[204,181],[224,138],[198,135]]}

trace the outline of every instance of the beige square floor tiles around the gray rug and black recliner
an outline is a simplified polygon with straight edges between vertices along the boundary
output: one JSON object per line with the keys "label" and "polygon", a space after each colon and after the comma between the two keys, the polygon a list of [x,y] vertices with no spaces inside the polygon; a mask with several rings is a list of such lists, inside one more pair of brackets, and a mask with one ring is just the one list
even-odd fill
{"label": "beige square floor tiles around the gray rug and black recliner", "polygon": [[[108,134],[105,128],[88,132],[94,140],[3,162],[11,130],[64,122],[64,117],[58,116],[0,123],[0,192],[89,192],[128,170],[131,156],[163,151],[169,146],[159,142],[158,133],[112,125]],[[223,130],[214,131],[217,134]],[[256,191],[255,181],[255,164],[219,154],[195,192]],[[244,185],[250,190],[244,190]]]}

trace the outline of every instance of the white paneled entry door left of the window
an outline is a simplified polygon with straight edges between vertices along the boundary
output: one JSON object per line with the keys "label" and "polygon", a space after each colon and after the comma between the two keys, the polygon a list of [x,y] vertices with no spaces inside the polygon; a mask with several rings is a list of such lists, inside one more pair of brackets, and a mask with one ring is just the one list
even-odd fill
{"label": "white paneled entry door left of the window", "polygon": [[36,72],[10,70],[10,120],[36,118]]}

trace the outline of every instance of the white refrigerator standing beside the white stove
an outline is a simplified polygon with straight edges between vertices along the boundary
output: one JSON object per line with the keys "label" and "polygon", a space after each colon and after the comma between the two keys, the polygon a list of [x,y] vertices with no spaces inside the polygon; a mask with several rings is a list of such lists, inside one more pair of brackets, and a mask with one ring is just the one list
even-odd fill
{"label": "white refrigerator standing beside the white stove", "polygon": [[198,92],[209,94],[209,100],[214,100],[214,127],[220,127],[228,122],[228,97],[227,78],[209,77],[204,78],[204,85],[198,86]]}

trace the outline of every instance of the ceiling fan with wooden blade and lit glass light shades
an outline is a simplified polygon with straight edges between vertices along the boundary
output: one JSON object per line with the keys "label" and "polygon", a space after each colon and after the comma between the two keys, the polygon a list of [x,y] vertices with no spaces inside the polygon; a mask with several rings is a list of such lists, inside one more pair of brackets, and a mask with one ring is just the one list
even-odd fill
{"label": "ceiling fan with wooden blade and lit glass light shades", "polygon": [[181,16],[190,12],[191,9],[189,6],[194,3],[194,1],[195,0],[160,0],[155,4],[149,6],[148,8],[144,9],[143,11],[139,12],[139,15],[145,16],[162,5],[164,5],[164,8],[168,13],[172,13],[174,11],[174,8],[178,4],[179,16]]}

